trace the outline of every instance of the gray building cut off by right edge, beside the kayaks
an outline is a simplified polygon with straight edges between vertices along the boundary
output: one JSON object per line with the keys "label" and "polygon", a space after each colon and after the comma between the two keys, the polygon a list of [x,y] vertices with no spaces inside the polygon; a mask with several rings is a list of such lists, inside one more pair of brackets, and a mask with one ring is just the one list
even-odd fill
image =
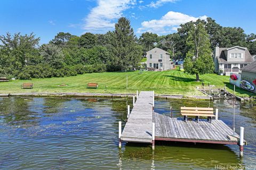
{"label": "gray building cut off by right edge, beside the kayaks", "polygon": [[243,69],[241,70],[242,70],[241,80],[245,80],[251,83],[255,88],[254,92],[256,92],[256,84],[254,83],[256,82],[256,61],[243,67]]}

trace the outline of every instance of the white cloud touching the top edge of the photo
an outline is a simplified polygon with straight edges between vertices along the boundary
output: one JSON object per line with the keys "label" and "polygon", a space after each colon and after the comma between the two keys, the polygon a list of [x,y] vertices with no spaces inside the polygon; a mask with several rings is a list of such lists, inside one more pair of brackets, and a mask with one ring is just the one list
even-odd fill
{"label": "white cloud touching the top edge of the photo", "polygon": [[84,18],[82,29],[90,32],[106,32],[114,28],[116,19],[123,15],[123,11],[133,7],[136,0],[98,0],[97,4]]}

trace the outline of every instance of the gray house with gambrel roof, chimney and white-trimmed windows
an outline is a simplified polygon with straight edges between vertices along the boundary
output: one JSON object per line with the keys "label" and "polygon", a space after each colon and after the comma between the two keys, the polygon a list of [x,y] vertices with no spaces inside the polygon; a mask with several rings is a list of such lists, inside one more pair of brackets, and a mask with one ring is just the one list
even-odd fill
{"label": "gray house with gambrel roof, chimney and white-trimmed windows", "polygon": [[239,46],[231,48],[215,47],[213,58],[215,72],[218,73],[222,70],[225,75],[230,75],[230,73],[240,73],[240,69],[253,62],[249,50]]}

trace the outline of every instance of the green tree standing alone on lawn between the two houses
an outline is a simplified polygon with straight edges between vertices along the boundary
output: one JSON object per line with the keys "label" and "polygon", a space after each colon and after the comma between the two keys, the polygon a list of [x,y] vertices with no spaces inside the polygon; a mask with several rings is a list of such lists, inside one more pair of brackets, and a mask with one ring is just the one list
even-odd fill
{"label": "green tree standing alone on lawn between the two houses", "polygon": [[214,70],[210,39],[203,23],[191,25],[186,44],[189,50],[185,58],[184,70],[188,74],[196,74],[196,81],[199,81],[199,74],[212,73]]}

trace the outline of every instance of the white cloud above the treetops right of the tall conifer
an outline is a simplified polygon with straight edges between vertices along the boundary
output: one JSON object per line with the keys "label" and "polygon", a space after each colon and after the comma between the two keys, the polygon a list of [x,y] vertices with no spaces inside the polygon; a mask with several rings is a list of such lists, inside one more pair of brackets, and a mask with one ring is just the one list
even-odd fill
{"label": "white cloud above the treetops right of the tall conifer", "polygon": [[177,28],[179,28],[180,24],[196,21],[197,19],[206,20],[207,16],[199,16],[194,17],[190,15],[186,15],[180,12],[169,11],[164,16],[162,16],[159,20],[150,20],[144,21],[141,23],[141,26],[137,32],[153,32],[153,33],[172,33]]}

